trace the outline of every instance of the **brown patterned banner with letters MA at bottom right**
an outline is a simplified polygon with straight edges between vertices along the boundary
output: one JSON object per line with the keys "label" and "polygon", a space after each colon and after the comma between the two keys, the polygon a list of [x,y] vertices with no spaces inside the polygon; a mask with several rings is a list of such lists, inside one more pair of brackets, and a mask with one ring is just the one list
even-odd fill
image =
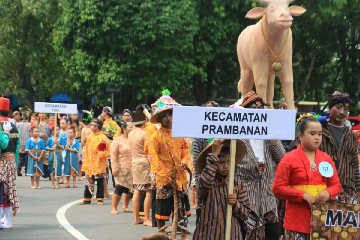
{"label": "brown patterned banner with letters MA at bottom right", "polygon": [[329,200],[321,207],[312,205],[311,239],[360,239],[360,205]]}

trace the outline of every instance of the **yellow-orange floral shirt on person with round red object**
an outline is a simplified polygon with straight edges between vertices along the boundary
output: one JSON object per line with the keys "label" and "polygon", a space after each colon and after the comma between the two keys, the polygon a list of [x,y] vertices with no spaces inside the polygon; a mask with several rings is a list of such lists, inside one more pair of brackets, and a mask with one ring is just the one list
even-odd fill
{"label": "yellow-orange floral shirt on person with round red object", "polygon": [[[107,151],[98,151],[100,142],[108,145]],[[81,168],[86,175],[93,176],[106,172],[106,161],[110,156],[110,143],[110,140],[102,132],[91,133],[87,137],[84,151],[86,161]]]}

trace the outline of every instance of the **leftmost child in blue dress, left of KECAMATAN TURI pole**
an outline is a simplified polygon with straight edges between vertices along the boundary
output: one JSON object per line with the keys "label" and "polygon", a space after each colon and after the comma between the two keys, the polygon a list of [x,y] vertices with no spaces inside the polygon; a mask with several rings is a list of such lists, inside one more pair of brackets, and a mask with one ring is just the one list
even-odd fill
{"label": "leftmost child in blue dress, left of KECAMATAN TURI pole", "polygon": [[[40,176],[44,174],[44,164],[42,156],[45,152],[44,141],[39,137],[39,128],[31,128],[32,136],[26,141],[25,151],[28,153],[27,160],[27,175],[31,178],[31,188],[40,189]],[[34,184],[34,177],[36,178],[36,186]]]}

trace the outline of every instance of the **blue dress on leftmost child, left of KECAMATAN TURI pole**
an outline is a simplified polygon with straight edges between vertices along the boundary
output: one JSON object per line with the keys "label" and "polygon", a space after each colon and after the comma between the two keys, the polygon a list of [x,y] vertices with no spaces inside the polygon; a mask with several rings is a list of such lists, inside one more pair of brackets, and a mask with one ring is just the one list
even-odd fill
{"label": "blue dress on leftmost child, left of KECAMATAN TURI pole", "polygon": [[[37,141],[35,142],[32,139],[32,137],[30,137],[26,141],[25,151],[31,151],[31,149],[40,149],[41,151],[46,151],[44,141],[40,137],[38,137]],[[36,157],[40,157],[40,155],[41,155],[41,153],[38,153],[35,151],[32,151],[32,154],[34,154]],[[44,164],[43,164],[42,158],[41,158],[40,162],[36,162],[35,159],[33,159],[30,156],[30,154],[28,154],[26,174],[29,176],[35,176],[35,173],[36,173],[35,168],[40,170],[41,175],[44,175]]]}

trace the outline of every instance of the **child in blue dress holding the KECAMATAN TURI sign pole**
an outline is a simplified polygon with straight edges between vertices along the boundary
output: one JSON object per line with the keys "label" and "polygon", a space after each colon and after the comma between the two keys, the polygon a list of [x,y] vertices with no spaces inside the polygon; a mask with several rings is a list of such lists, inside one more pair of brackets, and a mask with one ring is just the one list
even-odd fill
{"label": "child in blue dress holding the KECAMATAN TURI sign pole", "polygon": [[[57,139],[54,139],[54,126],[51,124],[50,129],[53,132],[53,136],[49,137],[46,142],[46,150],[49,151],[49,173],[51,178],[51,188],[60,188],[59,181],[62,176],[62,166],[63,166],[63,155],[62,150],[64,150],[64,140],[59,136],[59,128],[56,127],[56,136]],[[56,177],[56,187],[54,182],[54,175]]]}

